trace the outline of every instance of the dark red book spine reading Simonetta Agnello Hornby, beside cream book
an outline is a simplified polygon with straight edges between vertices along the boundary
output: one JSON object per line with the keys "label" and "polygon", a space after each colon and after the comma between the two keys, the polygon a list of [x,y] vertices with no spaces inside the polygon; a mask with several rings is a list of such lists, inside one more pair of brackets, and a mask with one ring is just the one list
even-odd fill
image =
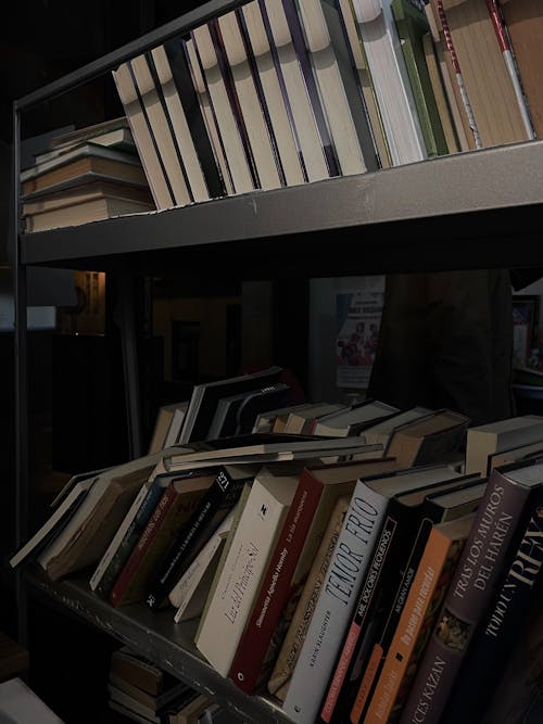
{"label": "dark red book spine reading Simonetta Agnello Hornby, beside cream book", "polygon": [[321,484],[304,470],[230,668],[230,678],[248,694],[256,686],[267,647],[289,599],[292,576],[321,495]]}

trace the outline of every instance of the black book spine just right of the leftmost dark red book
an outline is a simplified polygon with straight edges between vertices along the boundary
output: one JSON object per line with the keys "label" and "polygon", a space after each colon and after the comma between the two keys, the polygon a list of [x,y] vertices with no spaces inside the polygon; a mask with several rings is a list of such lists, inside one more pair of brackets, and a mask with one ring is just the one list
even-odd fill
{"label": "black book spine just right of the leftmost dark red book", "polygon": [[245,482],[247,478],[235,479],[226,468],[218,471],[197,510],[168,546],[157,572],[150,581],[144,598],[150,609],[157,609],[162,605],[179,576],[190,566],[189,556],[197,547],[200,532],[209,525],[220,508],[226,515],[239,499]]}

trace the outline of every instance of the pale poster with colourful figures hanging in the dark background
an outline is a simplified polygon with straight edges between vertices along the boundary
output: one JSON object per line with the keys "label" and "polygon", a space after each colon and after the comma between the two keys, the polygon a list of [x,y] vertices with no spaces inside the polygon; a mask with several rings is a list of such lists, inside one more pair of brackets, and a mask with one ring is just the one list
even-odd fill
{"label": "pale poster with colourful figures hanging in the dark background", "polygon": [[367,388],[379,338],[383,291],[336,294],[336,384]]}

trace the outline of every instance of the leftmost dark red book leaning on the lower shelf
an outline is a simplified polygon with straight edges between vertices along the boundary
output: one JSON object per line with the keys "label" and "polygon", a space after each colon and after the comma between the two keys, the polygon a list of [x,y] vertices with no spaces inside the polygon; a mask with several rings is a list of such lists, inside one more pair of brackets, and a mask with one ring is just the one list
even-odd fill
{"label": "leftmost dark red book leaning on the lower shelf", "polygon": [[109,595],[112,606],[143,598],[154,568],[161,564],[172,541],[198,509],[214,480],[215,474],[206,471],[169,481],[113,584]]}

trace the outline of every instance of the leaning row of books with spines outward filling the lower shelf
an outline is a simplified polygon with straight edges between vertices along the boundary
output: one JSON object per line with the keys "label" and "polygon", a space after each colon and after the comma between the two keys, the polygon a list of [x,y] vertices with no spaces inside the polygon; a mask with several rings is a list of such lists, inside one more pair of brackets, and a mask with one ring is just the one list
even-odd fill
{"label": "leaning row of books with spines outward filling the lower shelf", "polygon": [[[193,396],[209,420],[217,399]],[[329,408],[75,477],[10,562],[198,621],[193,650],[294,723],[517,721],[542,671],[522,658],[541,640],[543,418]],[[312,432],[269,431],[290,416]]]}

